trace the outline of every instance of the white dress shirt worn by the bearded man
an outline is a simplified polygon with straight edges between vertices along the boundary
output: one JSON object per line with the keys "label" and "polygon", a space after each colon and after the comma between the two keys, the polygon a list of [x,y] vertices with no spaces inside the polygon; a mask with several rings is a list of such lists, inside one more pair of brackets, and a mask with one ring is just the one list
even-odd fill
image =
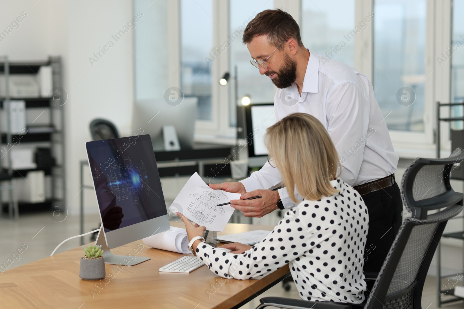
{"label": "white dress shirt worn by the bearded man", "polygon": [[[276,121],[293,113],[308,113],[321,121],[337,149],[342,164],[340,178],[351,186],[393,174],[399,157],[393,150],[371,82],[344,63],[309,52],[301,96],[296,83],[277,90]],[[241,182],[249,192],[276,188],[282,177],[266,162]],[[286,188],[278,192],[285,208],[296,205]],[[297,199],[303,197],[297,195]]]}

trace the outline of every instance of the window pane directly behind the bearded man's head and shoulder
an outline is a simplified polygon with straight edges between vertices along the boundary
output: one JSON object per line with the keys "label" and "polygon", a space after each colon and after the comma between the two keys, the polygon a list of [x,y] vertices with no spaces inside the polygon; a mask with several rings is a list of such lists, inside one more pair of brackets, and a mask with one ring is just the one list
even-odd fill
{"label": "window pane directly behind the bearded man's head and shoulder", "polygon": [[[317,54],[354,66],[354,0],[302,0],[303,45]],[[370,25],[359,21],[359,31]],[[353,32],[354,31],[354,32]]]}

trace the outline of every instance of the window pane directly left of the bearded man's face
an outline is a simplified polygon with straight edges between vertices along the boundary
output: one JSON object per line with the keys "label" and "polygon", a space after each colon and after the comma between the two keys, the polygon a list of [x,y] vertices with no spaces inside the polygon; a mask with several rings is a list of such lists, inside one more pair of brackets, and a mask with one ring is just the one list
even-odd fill
{"label": "window pane directly left of the bearded man's face", "polygon": [[[230,63],[232,76],[237,66],[238,87],[237,96],[231,91],[230,123],[236,124],[236,101],[244,95],[249,95],[252,103],[269,103],[274,101],[277,88],[267,76],[260,76],[259,70],[251,65],[250,52],[242,44],[242,36],[246,25],[257,13],[274,8],[273,0],[233,0],[230,1]],[[231,88],[233,89],[233,88]]]}

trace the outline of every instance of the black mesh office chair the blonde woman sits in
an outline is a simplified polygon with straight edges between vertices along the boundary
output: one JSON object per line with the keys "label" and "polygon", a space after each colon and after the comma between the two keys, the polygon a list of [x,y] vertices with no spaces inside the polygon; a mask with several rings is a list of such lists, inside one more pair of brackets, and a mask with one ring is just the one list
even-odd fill
{"label": "black mesh office chair the blonde woman sits in", "polygon": [[418,158],[408,167],[401,195],[412,216],[401,225],[364,305],[264,297],[257,309],[421,309],[425,276],[438,241],[447,221],[463,209],[463,194],[450,185],[453,164],[463,160],[463,151],[457,148],[449,158]]}

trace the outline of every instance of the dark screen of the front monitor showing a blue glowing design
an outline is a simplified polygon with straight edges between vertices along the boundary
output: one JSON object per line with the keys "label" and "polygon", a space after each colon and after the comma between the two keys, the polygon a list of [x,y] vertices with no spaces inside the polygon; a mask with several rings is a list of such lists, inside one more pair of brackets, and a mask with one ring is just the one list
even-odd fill
{"label": "dark screen of the front monitor showing a blue glowing design", "polygon": [[148,134],[86,147],[105,232],[168,213]]}

